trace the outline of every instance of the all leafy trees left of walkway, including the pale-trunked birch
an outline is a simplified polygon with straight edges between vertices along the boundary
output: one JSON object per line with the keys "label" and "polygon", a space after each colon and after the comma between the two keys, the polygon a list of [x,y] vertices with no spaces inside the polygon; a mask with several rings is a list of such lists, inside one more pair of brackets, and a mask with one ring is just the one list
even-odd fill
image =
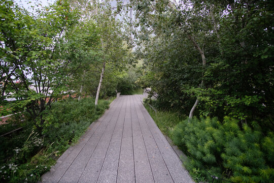
{"label": "all leafy trees left of walkway, including the pale-trunked birch", "polygon": [[37,6],[30,13],[1,1],[0,115],[27,111],[42,132],[43,111],[57,99],[114,95],[131,53],[117,13],[104,4],[89,19],[67,0]]}

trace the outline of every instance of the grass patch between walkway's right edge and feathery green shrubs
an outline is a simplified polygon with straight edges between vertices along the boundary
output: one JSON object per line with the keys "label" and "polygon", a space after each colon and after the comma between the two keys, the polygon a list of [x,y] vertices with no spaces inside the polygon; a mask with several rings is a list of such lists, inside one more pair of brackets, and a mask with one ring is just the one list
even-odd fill
{"label": "grass patch between walkway's right edge and feathery green shrubs", "polygon": [[164,135],[170,137],[170,131],[186,116],[179,114],[174,111],[157,111],[155,112],[149,105],[145,104],[145,107],[153,120],[155,121],[158,128]]}

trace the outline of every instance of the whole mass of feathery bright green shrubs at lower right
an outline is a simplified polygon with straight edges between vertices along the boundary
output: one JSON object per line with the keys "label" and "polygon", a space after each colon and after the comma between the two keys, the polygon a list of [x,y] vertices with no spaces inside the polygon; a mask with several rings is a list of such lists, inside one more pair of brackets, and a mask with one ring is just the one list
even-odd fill
{"label": "whole mass of feathery bright green shrubs at lower right", "polygon": [[190,155],[186,167],[191,174],[198,169],[209,181],[210,173],[233,182],[271,182],[273,137],[272,132],[264,136],[255,122],[249,127],[228,117],[223,123],[209,117],[194,117],[191,123],[186,119],[172,132],[174,143]]}

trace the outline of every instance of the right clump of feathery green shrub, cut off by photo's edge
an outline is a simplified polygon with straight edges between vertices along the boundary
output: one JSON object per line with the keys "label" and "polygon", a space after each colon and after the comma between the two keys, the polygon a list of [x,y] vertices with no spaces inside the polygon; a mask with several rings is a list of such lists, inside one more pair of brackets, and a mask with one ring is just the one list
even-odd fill
{"label": "right clump of feathery green shrub, cut off by photo's edge", "polygon": [[228,118],[225,118],[222,128],[226,143],[221,156],[223,166],[233,173],[231,180],[272,182],[274,180],[273,160],[269,161],[269,157],[274,156],[273,134],[269,133],[264,137],[260,129],[253,130],[245,124],[240,129],[235,121]]}

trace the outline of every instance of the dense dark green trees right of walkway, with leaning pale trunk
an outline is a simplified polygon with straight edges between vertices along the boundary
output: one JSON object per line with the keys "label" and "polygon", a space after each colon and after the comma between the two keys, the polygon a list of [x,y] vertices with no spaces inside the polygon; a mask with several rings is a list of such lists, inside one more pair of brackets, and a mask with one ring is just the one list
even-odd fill
{"label": "dense dark green trees right of walkway, with leaning pale trunk", "polygon": [[[162,107],[273,129],[272,1],[135,2],[142,77]],[[199,114],[196,110],[196,114]]]}

